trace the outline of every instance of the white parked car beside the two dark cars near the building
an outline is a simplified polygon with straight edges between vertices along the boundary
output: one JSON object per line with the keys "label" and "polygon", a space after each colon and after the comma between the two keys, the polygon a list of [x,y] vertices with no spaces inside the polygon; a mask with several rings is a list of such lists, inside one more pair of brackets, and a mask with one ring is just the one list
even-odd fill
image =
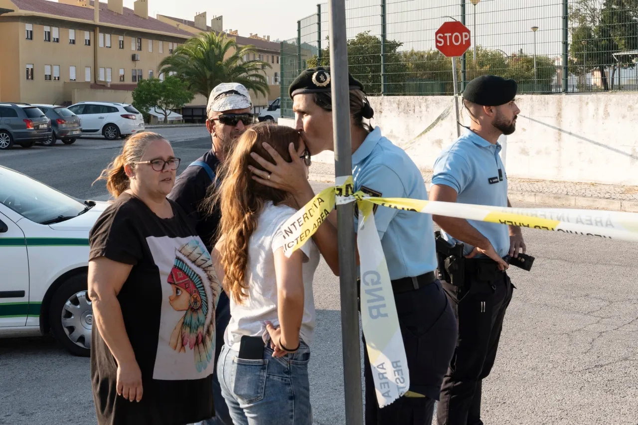
{"label": "white parked car beside the two dark cars near the building", "polygon": [[78,102],[68,110],[82,119],[83,135],[103,135],[115,140],[144,131],[142,113],[128,103]]}

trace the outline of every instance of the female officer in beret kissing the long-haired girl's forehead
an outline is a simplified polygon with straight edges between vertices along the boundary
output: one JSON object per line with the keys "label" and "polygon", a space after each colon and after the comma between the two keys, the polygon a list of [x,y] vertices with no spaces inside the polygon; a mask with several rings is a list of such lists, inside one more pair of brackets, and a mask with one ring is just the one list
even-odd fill
{"label": "female officer in beret kissing the long-haired girl's forehead", "polygon": [[[380,128],[373,129],[364,123],[364,119],[373,117],[374,111],[362,91],[362,84],[352,75],[348,78],[355,191],[379,197],[427,199],[426,187],[415,163],[383,137]],[[330,69],[303,71],[290,86],[289,94],[293,100],[295,126],[309,153],[332,150]],[[293,161],[287,163],[274,149],[267,147],[277,165],[256,157],[267,171],[253,169],[254,178],[290,192],[297,204],[304,205],[315,193],[306,179],[303,160],[294,153],[293,147],[290,149]],[[375,222],[395,294],[410,369],[410,391],[416,397],[402,397],[380,409],[366,353],[366,424],[429,424],[457,338],[454,313],[434,274],[433,221],[428,214],[378,207]],[[313,237],[326,262],[338,275],[334,211]],[[358,258],[357,254],[357,262]]]}

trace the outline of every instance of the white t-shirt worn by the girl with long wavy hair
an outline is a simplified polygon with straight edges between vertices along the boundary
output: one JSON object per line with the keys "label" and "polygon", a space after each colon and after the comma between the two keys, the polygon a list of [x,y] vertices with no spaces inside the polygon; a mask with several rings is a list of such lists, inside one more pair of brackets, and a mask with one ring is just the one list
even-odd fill
{"label": "white t-shirt worn by the girl with long wavy hair", "polygon": [[[295,210],[286,205],[268,202],[257,221],[257,228],[248,242],[248,264],[246,283],[248,297],[237,304],[230,297],[230,322],[226,327],[224,342],[232,350],[239,351],[243,335],[263,336],[266,320],[279,326],[277,314],[277,278],[275,274],[274,252],[283,246],[281,226]],[[302,248],[306,255],[302,265],[304,280],[304,315],[299,336],[311,345],[315,331],[315,299],[313,298],[313,276],[319,264],[319,250],[309,239]]]}

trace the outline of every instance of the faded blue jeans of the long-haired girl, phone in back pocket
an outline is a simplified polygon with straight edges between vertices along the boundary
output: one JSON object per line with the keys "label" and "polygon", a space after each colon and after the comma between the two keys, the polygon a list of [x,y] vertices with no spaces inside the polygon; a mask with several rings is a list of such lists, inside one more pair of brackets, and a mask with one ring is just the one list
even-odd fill
{"label": "faded blue jeans of the long-haired girl, phone in back pocket", "polygon": [[262,360],[239,359],[238,352],[224,347],[217,376],[235,425],[311,425],[308,362],[310,348],[276,359],[270,347]]}

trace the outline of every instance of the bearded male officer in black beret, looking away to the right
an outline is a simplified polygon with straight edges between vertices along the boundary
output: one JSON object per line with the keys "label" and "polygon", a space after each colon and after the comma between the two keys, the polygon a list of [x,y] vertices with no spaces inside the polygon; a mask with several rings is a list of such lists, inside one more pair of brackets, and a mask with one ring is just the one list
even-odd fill
{"label": "bearded male officer in black beret, looking away to the right", "polygon": [[[463,93],[470,128],[443,149],[436,163],[430,199],[463,204],[510,206],[500,135],[514,133],[521,112],[517,85],[494,75],[471,80]],[[525,252],[521,229],[483,221],[433,216],[451,244],[464,244],[464,276],[443,282],[459,323],[459,339],[441,386],[439,425],[479,425],[482,380],[489,375],[512,285],[503,257]],[[460,275],[459,275],[460,276]],[[452,285],[454,283],[454,285]]]}

